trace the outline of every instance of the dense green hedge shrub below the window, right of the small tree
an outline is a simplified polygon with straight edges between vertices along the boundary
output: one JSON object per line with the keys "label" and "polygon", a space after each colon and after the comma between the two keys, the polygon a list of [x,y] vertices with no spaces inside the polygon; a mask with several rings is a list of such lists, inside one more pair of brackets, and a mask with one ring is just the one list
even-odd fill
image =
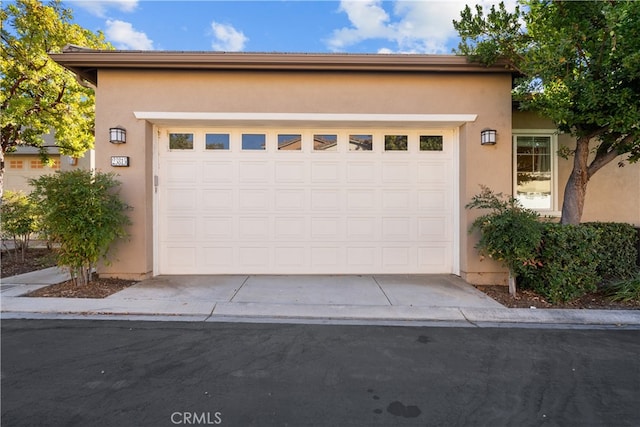
{"label": "dense green hedge shrub below the window, right of the small tree", "polygon": [[539,259],[524,286],[553,303],[571,301],[597,290],[599,233],[581,225],[544,224]]}

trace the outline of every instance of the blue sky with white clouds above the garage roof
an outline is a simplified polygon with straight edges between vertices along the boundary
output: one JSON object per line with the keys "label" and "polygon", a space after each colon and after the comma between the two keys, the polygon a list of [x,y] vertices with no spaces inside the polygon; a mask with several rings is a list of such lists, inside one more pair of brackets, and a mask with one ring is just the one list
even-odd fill
{"label": "blue sky with white clouds above the garage roof", "polygon": [[451,21],[465,3],[63,1],[76,23],[104,32],[118,49],[314,53],[451,53],[458,44]]}

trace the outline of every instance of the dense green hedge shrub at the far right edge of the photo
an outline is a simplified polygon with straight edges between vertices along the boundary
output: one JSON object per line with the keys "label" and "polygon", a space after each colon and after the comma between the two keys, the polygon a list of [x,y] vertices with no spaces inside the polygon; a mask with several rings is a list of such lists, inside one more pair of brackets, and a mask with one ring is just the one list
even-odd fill
{"label": "dense green hedge shrub at the far right edge of the photo", "polygon": [[631,224],[589,222],[583,227],[598,233],[598,274],[605,281],[628,279],[636,273],[638,233]]}

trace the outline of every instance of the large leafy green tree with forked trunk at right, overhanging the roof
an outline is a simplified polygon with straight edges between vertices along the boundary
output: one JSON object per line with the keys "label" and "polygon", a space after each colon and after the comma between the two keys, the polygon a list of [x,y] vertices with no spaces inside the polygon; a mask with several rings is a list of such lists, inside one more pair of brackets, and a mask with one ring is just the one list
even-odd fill
{"label": "large leafy green tree with forked trunk at right, overhanging the roof", "polygon": [[[587,184],[605,165],[640,160],[640,2],[520,0],[485,13],[469,6],[454,21],[456,53],[504,61],[520,78],[521,109],[537,111],[576,138],[562,203],[563,224],[579,224]],[[622,157],[619,157],[622,156]]]}

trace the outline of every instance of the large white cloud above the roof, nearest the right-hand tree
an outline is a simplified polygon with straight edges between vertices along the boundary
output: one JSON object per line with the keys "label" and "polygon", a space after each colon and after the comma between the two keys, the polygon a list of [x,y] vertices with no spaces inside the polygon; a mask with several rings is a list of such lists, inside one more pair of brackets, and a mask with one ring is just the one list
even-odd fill
{"label": "large white cloud above the roof, nearest the right-hand tree", "polygon": [[[495,1],[480,0],[485,7]],[[507,9],[513,10],[514,0]],[[386,4],[386,3],[385,3]],[[379,39],[387,44],[378,53],[450,53],[457,37],[452,21],[460,19],[466,2],[421,0],[393,2],[386,11],[380,0],[342,0],[340,12],[347,14],[351,26],[334,30],[327,40],[329,49],[342,51],[366,40]]]}

